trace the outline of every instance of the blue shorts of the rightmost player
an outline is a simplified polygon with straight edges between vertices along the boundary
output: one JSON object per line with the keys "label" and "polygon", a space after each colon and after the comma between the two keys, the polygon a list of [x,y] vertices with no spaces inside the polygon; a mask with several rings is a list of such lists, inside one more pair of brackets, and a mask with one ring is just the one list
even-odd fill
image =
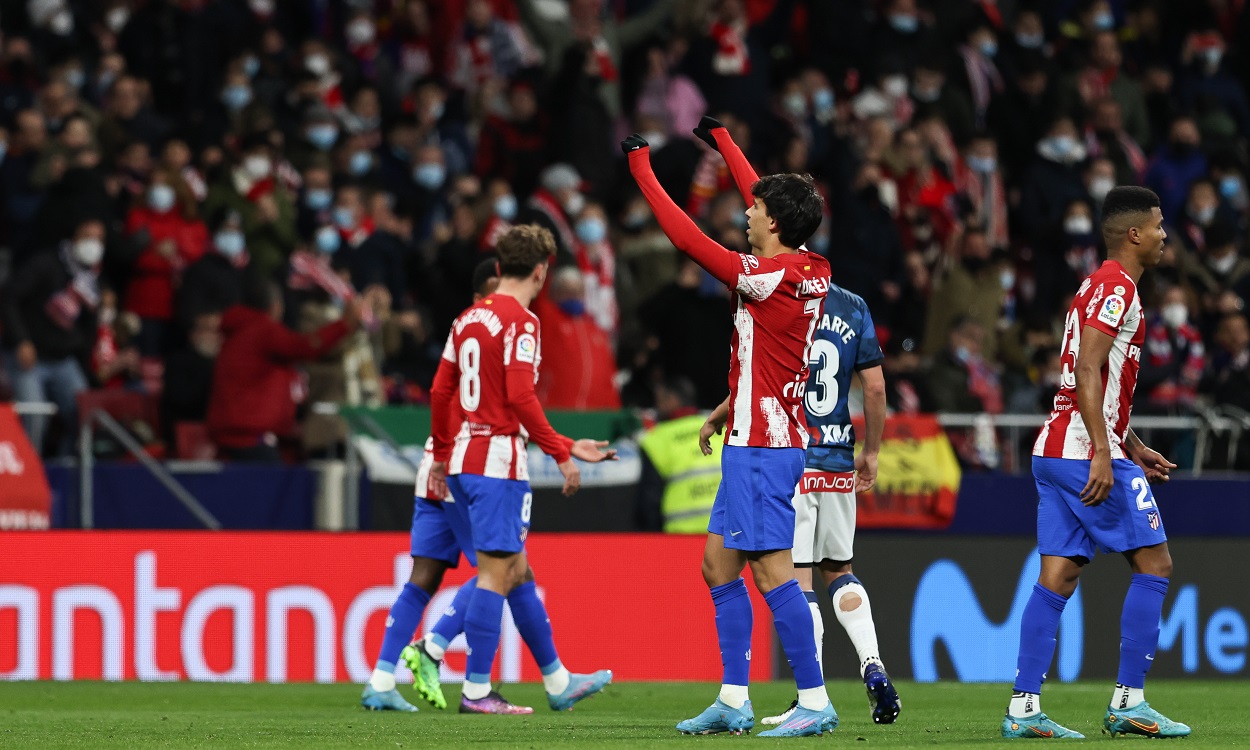
{"label": "blue shorts of the rightmost player", "polygon": [[1039,552],[1092,560],[1095,551],[1126,552],[1168,541],[1141,468],[1129,459],[1112,459],[1111,474],[1111,494],[1086,508],[1081,490],[1090,479],[1089,461],[1034,456]]}

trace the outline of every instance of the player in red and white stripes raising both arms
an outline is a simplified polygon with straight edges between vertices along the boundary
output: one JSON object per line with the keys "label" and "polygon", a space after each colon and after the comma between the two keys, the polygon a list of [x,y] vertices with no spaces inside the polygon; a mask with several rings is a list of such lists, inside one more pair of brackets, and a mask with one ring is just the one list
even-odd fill
{"label": "player in red and white stripes raising both arms", "polygon": [[742,568],[750,565],[776,624],[799,686],[799,706],[761,736],[816,735],[838,726],[811,639],[811,611],[794,579],[794,489],[802,474],[808,425],[802,390],[811,336],[829,291],[829,264],[801,250],[820,225],[821,198],[811,178],[759,179],[729,131],[704,118],[695,135],[725,158],[746,209],[754,255],[706,238],[651,171],[639,135],[621,141],[629,168],[674,245],[726,284],[736,298],[730,406],[722,479],[708,524],[704,580],[716,608],[724,681],[716,701],[678,724],[685,734],[744,732],[755,726],[748,695],[751,604]]}

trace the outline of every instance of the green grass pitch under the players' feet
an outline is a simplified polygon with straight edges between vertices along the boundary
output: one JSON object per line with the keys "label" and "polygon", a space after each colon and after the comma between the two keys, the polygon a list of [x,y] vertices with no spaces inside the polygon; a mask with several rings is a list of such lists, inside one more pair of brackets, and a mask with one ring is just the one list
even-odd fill
{"label": "green grass pitch under the players' feet", "polygon": [[[574,711],[552,714],[540,685],[505,686],[505,695],[535,706],[532,716],[461,716],[364,711],[352,685],[209,685],[140,682],[0,682],[0,748],[654,748],[711,742],[768,745],[758,736],[681,736],[672,725],[698,714],[715,686],[692,682],[614,685]],[[405,694],[410,694],[404,689]],[[789,704],[792,684],[754,685],[758,716]],[[1046,712],[1106,742],[1100,734],[1109,684],[1052,685]],[[876,726],[862,686],[830,684],[841,716],[831,735],[790,745],[921,748],[989,745],[999,739],[1005,685],[899,684],[904,710],[892,726]],[[452,705],[456,690],[449,691]],[[1149,698],[1194,728],[1185,746],[1250,745],[1239,716],[1250,684],[1154,681]],[[415,701],[415,696],[412,696]],[[759,731],[760,726],[756,726]],[[1118,742],[1136,742],[1138,738]],[[864,742],[864,744],[861,744]],[[1118,745],[1119,746],[1119,745]]]}

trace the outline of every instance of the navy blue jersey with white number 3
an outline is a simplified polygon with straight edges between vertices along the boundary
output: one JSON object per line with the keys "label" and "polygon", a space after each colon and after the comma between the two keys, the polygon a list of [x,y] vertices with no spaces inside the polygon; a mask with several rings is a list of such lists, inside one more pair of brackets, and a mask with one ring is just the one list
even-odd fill
{"label": "navy blue jersey with white number 3", "polygon": [[829,285],[825,309],[808,352],[808,469],[852,471],[855,431],[848,396],[851,372],[885,360],[868,305],[836,284]]}

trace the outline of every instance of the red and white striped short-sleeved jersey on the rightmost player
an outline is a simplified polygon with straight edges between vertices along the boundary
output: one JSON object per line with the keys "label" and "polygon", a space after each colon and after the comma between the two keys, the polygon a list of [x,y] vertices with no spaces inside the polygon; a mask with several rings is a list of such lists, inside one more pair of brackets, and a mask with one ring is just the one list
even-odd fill
{"label": "red and white striped short-sleeved jersey on the rightmost player", "polygon": [[1141,369],[1141,345],[1146,324],[1138,299],[1138,285],[1124,266],[1108,260],[1081,284],[1064,324],[1062,380],[1032,455],[1052,459],[1094,458],[1094,442],[1085,430],[1076,402],[1076,358],[1081,331],[1090,326],[1115,336],[1108,361],[1102,365],[1102,418],[1106,420],[1111,458],[1126,458],[1124,440],[1129,432],[1132,390]]}

